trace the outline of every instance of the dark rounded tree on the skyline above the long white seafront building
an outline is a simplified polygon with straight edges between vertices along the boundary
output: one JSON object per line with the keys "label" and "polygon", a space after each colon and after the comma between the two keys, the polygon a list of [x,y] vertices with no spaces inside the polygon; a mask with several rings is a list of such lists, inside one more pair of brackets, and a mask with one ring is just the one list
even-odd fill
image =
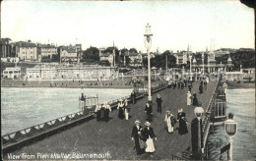
{"label": "dark rounded tree on the skyline above the long white seafront building", "polygon": [[82,62],[99,62],[99,50],[91,46],[83,51]]}

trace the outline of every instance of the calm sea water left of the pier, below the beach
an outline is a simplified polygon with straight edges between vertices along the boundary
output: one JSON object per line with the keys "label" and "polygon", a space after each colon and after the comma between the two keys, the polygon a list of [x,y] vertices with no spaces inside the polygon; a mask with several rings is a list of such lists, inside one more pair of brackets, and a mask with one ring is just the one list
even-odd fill
{"label": "calm sea water left of the pier, below the beach", "polygon": [[108,102],[132,89],[1,88],[2,134],[10,134],[79,111],[82,92]]}

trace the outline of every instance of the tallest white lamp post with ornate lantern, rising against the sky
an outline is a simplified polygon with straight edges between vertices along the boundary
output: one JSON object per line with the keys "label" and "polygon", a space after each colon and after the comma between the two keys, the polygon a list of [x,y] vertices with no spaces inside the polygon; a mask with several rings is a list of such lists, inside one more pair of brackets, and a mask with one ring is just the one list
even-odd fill
{"label": "tallest white lamp post with ornate lantern, rising against the sky", "polygon": [[151,96],[151,53],[150,49],[152,46],[152,32],[151,32],[151,26],[148,24],[146,26],[146,32],[144,34],[145,40],[145,47],[147,48],[147,53],[148,53],[148,100],[151,102],[152,101],[152,96]]}

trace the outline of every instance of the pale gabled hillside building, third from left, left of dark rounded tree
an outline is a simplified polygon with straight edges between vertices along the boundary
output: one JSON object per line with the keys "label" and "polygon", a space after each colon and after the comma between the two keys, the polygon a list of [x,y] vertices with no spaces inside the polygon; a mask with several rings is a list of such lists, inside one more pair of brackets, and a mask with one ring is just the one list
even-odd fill
{"label": "pale gabled hillside building, third from left, left of dark rounded tree", "polygon": [[60,60],[61,63],[76,63],[78,61],[78,51],[77,46],[60,46]]}

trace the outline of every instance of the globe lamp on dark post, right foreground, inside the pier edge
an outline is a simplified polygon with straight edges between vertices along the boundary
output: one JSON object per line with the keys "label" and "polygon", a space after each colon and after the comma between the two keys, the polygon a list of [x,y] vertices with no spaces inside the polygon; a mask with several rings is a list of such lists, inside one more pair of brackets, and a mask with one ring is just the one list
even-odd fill
{"label": "globe lamp on dark post, right foreground, inside the pier edge", "polygon": [[202,134],[201,122],[202,122],[202,120],[201,119],[204,114],[204,109],[201,106],[198,106],[194,109],[194,113],[198,120],[198,152],[199,152],[199,154],[201,154],[204,151],[204,147],[203,147],[204,145],[203,145],[203,142],[201,141],[202,140],[202,138],[201,138],[201,134]]}

